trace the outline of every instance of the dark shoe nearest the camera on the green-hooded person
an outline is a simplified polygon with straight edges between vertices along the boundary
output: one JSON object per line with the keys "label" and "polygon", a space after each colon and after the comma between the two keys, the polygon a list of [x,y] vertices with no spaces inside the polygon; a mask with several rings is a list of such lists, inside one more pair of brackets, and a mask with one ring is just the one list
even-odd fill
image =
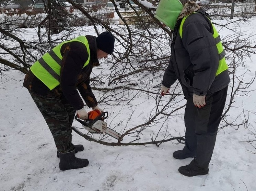
{"label": "dark shoe nearest the camera on the green-hooded person", "polygon": [[191,161],[189,165],[179,167],[179,173],[185,176],[197,176],[208,174],[209,168],[200,168],[197,166],[196,159]]}

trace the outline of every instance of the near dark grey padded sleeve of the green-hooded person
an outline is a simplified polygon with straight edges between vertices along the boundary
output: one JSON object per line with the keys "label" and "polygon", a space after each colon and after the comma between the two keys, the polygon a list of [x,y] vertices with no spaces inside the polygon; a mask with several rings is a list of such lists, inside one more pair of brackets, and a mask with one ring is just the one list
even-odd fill
{"label": "near dark grey padded sleeve of the green-hooded person", "polygon": [[197,95],[206,95],[219,66],[218,49],[206,19],[201,14],[192,14],[186,19],[182,33],[183,45],[193,65],[193,88]]}

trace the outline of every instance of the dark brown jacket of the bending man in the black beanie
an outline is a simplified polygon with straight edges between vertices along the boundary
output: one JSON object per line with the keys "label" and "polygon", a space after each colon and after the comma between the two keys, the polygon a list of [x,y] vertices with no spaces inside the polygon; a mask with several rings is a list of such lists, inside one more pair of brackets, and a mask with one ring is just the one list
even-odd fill
{"label": "dark brown jacket of the bending man in the black beanie", "polygon": [[96,37],[86,36],[86,39],[90,47],[90,62],[88,65],[82,68],[89,56],[83,43],[77,41],[65,43],[61,47],[61,55],[63,58],[61,62],[60,85],[50,91],[49,88],[29,70],[23,83],[24,87],[37,95],[45,97],[65,96],[75,110],[81,109],[84,105],[77,91],[78,89],[88,107],[96,106],[97,100],[90,86],[92,68],[93,66],[99,65],[96,53]]}

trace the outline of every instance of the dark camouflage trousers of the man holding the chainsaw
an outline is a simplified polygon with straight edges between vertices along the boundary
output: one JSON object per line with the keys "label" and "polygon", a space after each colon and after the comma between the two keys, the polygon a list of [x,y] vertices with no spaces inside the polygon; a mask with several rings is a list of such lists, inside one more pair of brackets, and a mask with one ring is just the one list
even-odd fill
{"label": "dark camouflage trousers of the man holding the chainsaw", "polygon": [[68,103],[67,99],[64,96],[61,98],[39,96],[33,92],[30,92],[30,95],[42,113],[58,151],[74,150],[71,125],[75,116],[75,109]]}

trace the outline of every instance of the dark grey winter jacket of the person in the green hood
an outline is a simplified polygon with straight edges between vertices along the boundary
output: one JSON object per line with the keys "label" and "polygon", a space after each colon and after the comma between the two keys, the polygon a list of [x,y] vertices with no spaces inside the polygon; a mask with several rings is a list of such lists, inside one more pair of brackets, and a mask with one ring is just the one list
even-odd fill
{"label": "dark grey winter jacket of the person in the green hood", "polygon": [[171,59],[162,84],[170,87],[177,79],[182,85],[185,98],[217,92],[230,82],[228,70],[218,76],[219,55],[212,36],[213,29],[206,13],[189,15],[183,24],[182,38],[179,35],[181,19],[173,31]]}

